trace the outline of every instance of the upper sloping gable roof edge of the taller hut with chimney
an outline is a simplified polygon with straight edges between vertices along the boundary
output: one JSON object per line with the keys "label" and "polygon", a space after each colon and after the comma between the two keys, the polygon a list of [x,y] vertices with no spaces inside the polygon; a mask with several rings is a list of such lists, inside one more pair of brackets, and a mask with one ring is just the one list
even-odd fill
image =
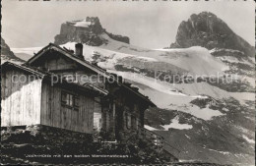
{"label": "upper sloping gable roof edge of the taller hut with chimney", "polygon": [[32,64],[33,61],[35,61],[37,58],[39,58],[41,55],[43,55],[46,51],[50,50],[50,49],[54,49],[60,53],[62,53],[63,55],[69,57],[70,59],[76,61],[77,63],[95,71],[97,74],[110,79],[113,78],[114,81],[116,83],[118,83],[119,85],[123,86],[124,88],[130,90],[131,92],[133,92],[134,94],[136,94],[137,96],[143,98],[146,102],[149,103],[149,105],[151,106],[156,106],[156,104],[154,104],[148,97],[146,97],[145,95],[141,94],[139,91],[132,89],[131,86],[126,85],[124,83],[120,83],[118,82],[118,80],[116,78],[114,78],[111,74],[107,73],[104,69],[82,59],[79,58],[77,56],[75,56],[71,51],[68,51],[64,48],[61,48],[60,46],[53,44],[53,43],[49,43],[47,46],[43,47],[40,51],[38,51],[31,59],[28,60],[28,62],[26,64]]}

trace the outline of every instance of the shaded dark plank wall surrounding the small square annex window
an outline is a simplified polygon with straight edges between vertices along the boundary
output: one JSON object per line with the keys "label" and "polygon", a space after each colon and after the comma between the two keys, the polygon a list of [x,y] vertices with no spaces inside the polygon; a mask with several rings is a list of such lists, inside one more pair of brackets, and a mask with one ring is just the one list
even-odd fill
{"label": "shaded dark plank wall surrounding the small square annex window", "polygon": [[[75,132],[93,133],[94,97],[79,95],[79,110],[61,104],[62,87],[42,84],[41,124]],[[73,91],[74,92],[74,91]]]}

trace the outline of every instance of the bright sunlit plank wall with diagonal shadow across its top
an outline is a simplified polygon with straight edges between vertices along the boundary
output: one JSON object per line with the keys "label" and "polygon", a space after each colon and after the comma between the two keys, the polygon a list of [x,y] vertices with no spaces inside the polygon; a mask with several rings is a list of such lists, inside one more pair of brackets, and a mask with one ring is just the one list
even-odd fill
{"label": "bright sunlit plank wall with diagonal shadow across its top", "polygon": [[[22,76],[22,82],[13,76]],[[2,127],[40,123],[41,80],[30,81],[28,78],[28,74],[18,70],[1,74]],[[24,80],[26,82],[23,82]]]}

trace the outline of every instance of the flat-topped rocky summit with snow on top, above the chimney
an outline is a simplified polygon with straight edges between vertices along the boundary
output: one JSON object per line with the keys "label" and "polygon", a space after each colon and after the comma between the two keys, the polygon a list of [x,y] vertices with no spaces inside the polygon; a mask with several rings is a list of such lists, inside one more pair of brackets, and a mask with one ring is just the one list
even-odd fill
{"label": "flat-topped rocky summit with snow on top, above the chimney", "polygon": [[107,42],[101,34],[107,34],[110,38],[124,43],[130,42],[127,36],[107,32],[101,27],[97,17],[87,17],[85,20],[62,24],[60,34],[55,36],[54,43],[60,45],[67,42],[83,42],[87,45],[99,46]]}

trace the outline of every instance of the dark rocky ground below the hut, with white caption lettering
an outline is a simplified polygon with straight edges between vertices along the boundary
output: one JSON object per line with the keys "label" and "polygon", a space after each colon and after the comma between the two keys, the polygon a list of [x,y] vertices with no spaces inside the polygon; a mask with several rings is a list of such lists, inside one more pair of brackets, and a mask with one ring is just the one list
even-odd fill
{"label": "dark rocky ground below the hut, with white caption lettering", "polygon": [[174,156],[157,151],[151,141],[134,136],[130,137],[133,141],[112,143],[93,141],[91,134],[43,125],[2,128],[1,164],[103,165],[107,161],[110,165],[156,165],[177,162]]}

